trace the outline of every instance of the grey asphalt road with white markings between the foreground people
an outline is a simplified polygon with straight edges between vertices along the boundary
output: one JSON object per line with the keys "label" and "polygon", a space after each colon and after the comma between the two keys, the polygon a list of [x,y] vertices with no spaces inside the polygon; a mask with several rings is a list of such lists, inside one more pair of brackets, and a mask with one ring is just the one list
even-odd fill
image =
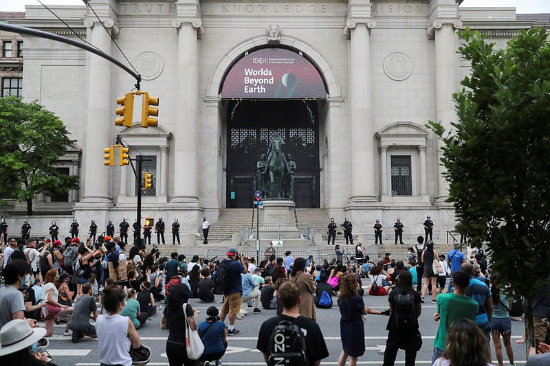
{"label": "grey asphalt road with white markings between the foreground people", "polygon": [[[221,296],[216,296],[216,300]],[[375,310],[385,310],[387,308],[387,296],[375,297],[364,295],[364,301],[367,306]],[[419,319],[420,332],[423,337],[423,345],[417,354],[417,365],[430,365],[430,358],[433,349],[433,340],[437,331],[437,324],[433,321],[435,304],[431,303],[431,297],[426,297],[426,304],[423,304],[422,314]],[[191,299],[190,303],[201,311],[199,321],[206,318],[206,309],[212,304],[201,304],[198,299]],[[336,303],[336,301],[335,301]],[[214,303],[221,308],[221,304]],[[142,343],[151,347],[153,358],[148,365],[168,365],[166,358],[166,338],[167,330],[159,328],[162,308],[164,304],[157,304],[160,309],[157,311],[151,321],[147,322],[143,328],[138,330],[142,337]],[[340,342],[340,312],[338,307],[331,309],[316,309],[317,321],[320,324],[322,334],[329,349],[329,357],[322,361],[322,365],[336,365],[338,356],[342,351]],[[261,323],[270,317],[273,317],[275,310],[263,310],[260,314],[252,314],[252,308],[249,309],[248,316],[242,320],[237,320],[235,328],[241,330],[237,336],[228,336],[228,350],[222,358],[223,365],[265,365],[262,354],[256,350],[256,339]],[[227,321],[227,320],[226,320]],[[365,324],[365,346],[364,356],[359,358],[359,365],[382,365],[384,358],[384,347],[386,344],[386,323],[388,317],[384,315],[367,316]],[[523,322],[512,321],[512,343],[514,347],[514,356],[517,364],[525,363],[524,345],[516,345],[514,341],[522,336]],[[60,366],[96,366],[98,361],[98,343],[93,339],[82,339],[78,343],[72,343],[69,336],[63,336],[65,325],[56,325],[54,336],[50,337],[49,352],[52,355],[53,362]],[[494,356],[494,346],[492,347],[492,359],[496,363]],[[504,353],[504,350],[503,350]],[[404,352],[397,354],[396,365],[404,364]],[[505,356],[505,365],[508,365]]]}

